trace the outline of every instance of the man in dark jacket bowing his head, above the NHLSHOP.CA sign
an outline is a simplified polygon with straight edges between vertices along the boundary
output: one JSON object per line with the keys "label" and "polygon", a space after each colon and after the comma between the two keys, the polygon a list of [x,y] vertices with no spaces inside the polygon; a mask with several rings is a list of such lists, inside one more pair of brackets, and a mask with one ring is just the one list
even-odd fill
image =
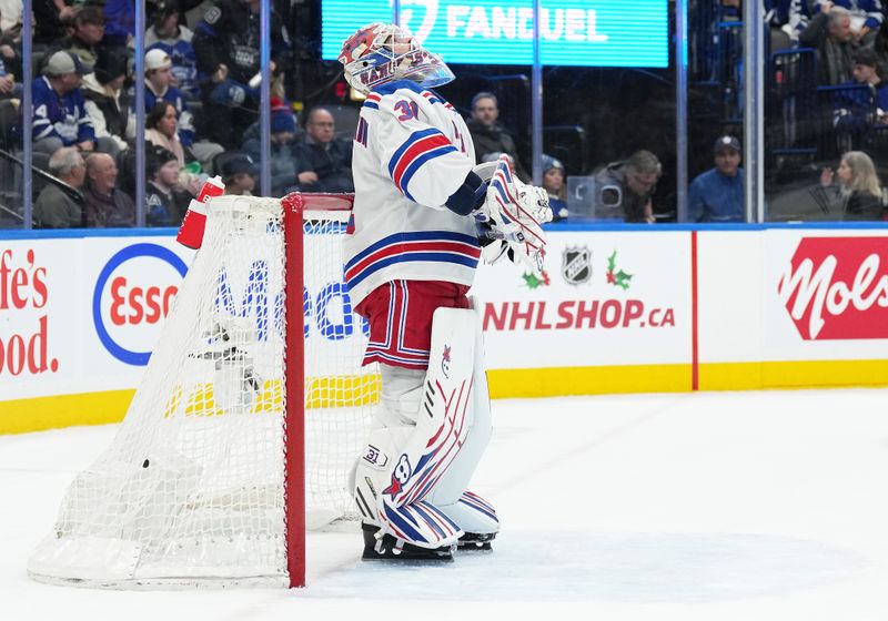
{"label": "man in dark jacket bowing his head, above the NHLSHOP.CA sign", "polygon": [[653,196],[663,174],[659,160],[649,151],[636,151],[628,160],[607,164],[595,173],[597,218],[656,222]]}

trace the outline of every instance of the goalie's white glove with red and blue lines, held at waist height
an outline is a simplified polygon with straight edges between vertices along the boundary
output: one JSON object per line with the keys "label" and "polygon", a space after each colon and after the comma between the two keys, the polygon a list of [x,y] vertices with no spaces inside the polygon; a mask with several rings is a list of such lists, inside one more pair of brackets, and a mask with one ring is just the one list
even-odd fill
{"label": "goalie's white glove with red and blue lines, held at waist height", "polygon": [[490,180],[484,203],[472,214],[484,246],[484,262],[493,264],[507,255],[542,277],[546,234],[541,224],[552,220],[546,191],[515,179],[505,155],[476,166],[475,173]]}

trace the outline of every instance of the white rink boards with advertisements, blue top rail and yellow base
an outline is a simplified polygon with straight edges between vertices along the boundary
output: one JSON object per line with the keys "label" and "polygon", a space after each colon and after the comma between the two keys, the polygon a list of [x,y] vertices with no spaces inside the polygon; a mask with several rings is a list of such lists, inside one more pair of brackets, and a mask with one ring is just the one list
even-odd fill
{"label": "white rink boards with advertisements, blue top rail and yellow base", "polygon": [[[888,385],[884,224],[548,232],[542,278],[477,274],[494,398]],[[0,232],[0,432],[122,419],[192,257],[173,230]]]}

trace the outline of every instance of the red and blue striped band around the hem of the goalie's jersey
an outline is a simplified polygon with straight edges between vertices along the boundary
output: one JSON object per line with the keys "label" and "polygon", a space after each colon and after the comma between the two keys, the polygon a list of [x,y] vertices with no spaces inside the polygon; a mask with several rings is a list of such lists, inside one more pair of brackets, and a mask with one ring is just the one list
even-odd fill
{"label": "red and blue striped band around the hem of the goalie's jersey", "polygon": [[372,274],[407,262],[452,263],[475,269],[481,257],[477,237],[454,231],[395,233],[371,244],[345,264],[345,282],[356,287]]}

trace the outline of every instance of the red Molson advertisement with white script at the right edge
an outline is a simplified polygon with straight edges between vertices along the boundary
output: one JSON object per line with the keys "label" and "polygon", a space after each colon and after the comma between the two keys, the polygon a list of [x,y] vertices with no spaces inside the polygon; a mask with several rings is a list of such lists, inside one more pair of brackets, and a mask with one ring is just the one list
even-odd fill
{"label": "red Molson advertisement with white script at the right edge", "polygon": [[888,237],[803,237],[777,287],[805,340],[888,338]]}

